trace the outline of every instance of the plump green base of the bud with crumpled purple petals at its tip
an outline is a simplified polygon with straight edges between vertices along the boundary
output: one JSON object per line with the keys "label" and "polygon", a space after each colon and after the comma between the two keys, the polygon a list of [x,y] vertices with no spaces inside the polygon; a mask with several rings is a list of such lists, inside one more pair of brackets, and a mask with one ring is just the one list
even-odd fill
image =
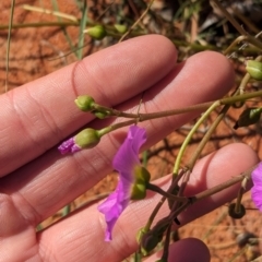
{"label": "plump green base of the bud with crumpled purple petals at its tip", "polygon": [[93,148],[100,142],[100,135],[95,129],[84,129],[74,138],[75,144],[81,148]]}

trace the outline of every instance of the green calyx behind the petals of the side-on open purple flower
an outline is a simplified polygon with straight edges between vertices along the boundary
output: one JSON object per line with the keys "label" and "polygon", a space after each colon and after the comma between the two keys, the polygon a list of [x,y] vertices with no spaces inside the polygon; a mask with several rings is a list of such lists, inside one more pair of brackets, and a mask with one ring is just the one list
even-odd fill
{"label": "green calyx behind the petals of the side-on open purple flower", "polygon": [[146,184],[151,179],[151,175],[143,166],[135,166],[134,179],[131,200],[142,200],[146,196]]}

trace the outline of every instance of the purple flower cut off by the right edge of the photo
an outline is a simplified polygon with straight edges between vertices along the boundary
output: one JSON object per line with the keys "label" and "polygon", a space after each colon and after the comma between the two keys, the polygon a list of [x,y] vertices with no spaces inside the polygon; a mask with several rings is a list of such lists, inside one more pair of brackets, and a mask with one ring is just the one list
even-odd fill
{"label": "purple flower cut off by the right edge of the photo", "polygon": [[251,188],[251,198],[255,206],[262,212],[262,162],[252,171],[251,178],[253,187]]}

